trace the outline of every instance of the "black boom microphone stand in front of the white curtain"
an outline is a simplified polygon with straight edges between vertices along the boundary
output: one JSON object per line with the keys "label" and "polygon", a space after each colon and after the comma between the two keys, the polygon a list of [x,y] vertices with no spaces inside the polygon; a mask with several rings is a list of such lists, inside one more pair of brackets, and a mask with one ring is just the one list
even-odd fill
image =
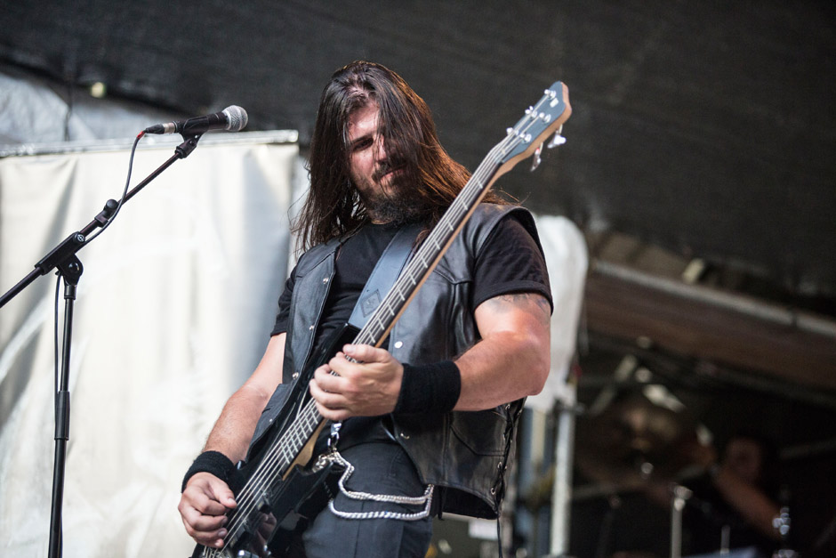
{"label": "black boom microphone stand in front of the white curtain", "polygon": [[[197,147],[197,141],[203,133],[194,135],[183,135],[180,145],[174,149],[174,155],[165,161],[148,177],[137,184],[133,190],[125,194],[124,202],[133,198],[149,182],[162,174],[166,168],[172,166],[174,161],[189,157],[189,154]],[[124,203],[123,202],[123,203]],[[35,264],[35,270],[21,279],[17,285],[9,289],[7,293],[0,296],[0,308],[18,295],[20,291],[37,279],[38,276],[46,275],[52,269],[58,268],[58,274],[64,279],[64,331],[62,339],[60,387],[55,393],[55,460],[52,468],[52,512],[50,517],[50,558],[60,558],[62,551],[61,531],[61,508],[64,497],[64,477],[67,456],[67,442],[69,441],[69,357],[70,344],[73,334],[73,310],[76,302],[76,287],[78,279],[84,271],[84,266],[76,256],[76,252],[87,244],[87,237],[93,230],[104,227],[110,217],[116,212],[119,204],[114,199],[105,203],[104,209],[96,215],[91,222],[80,231],[70,234],[62,240],[57,247],[44,256],[40,262]]]}

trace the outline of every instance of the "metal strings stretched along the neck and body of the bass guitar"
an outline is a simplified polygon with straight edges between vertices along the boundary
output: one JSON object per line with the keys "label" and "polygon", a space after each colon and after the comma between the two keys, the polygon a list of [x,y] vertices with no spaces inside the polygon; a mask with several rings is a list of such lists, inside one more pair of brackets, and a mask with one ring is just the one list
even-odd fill
{"label": "metal strings stretched along the neck and body of the bass guitar", "polygon": [[[543,98],[540,101],[538,101],[537,105],[535,105],[535,107],[533,108],[534,110],[532,112],[536,112],[536,109],[539,108],[543,102],[548,101],[549,99],[550,97],[547,93],[546,96],[543,96]],[[515,126],[514,128],[512,128],[513,132],[506,135],[506,137],[502,139],[502,142],[499,142],[494,147],[494,149],[492,149],[488,153],[485,162],[479,165],[477,170],[472,175],[474,182],[473,190],[476,191],[468,191],[468,184],[466,184],[464,189],[462,189],[462,194],[464,195],[463,198],[468,199],[465,201],[462,198],[462,196],[454,198],[454,201],[453,203],[451,203],[449,211],[443,215],[442,220],[454,221],[455,219],[458,219],[458,215],[454,214],[459,211],[462,211],[462,209],[468,209],[468,207],[462,208],[460,206],[467,206],[469,204],[472,204],[474,201],[472,198],[473,196],[475,196],[478,199],[478,196],[481,196],[484,193],[486,193],[486,184],[484,181],[491,177],[491,175],[494,173],[494,166],[496,166],[502,160],[502,158],[495,158],[495,151],[502,150],[505,147],[507,147],[508,150],[505,152],[507,154],[510,153],[510,151],[516,149],[520,142],[525,141],[524,136],[527,133],[528,128],[534,125],[538,119],[541,119],[541,117],[536,114],[534,117],[529,115],[527,119],[524,118],[524,120],[526,120],[527,128],[518,130]],[[510,145],[506,146],[506,143],[510,143]],[[492,156],[494,156],[494,160],[491,160]],[[492,163],[492,168],[490,169],[484,168],[485,166],[487,166],[488,162]],[[458,204],[457,202],[460,199],[462,199],[462,203]],[[448,214],[451,214],[451,217],[453,218],[446,219]],[[448,228],[449,230],[444,230],[445,228]],[[437,230],[439,231],[438,234],[436,234]],[[417,279],[414,279],[415,271],[421,271],[421,269],[425,270],[430,265],[430,263],[426,261],[426,256],[428,255],[426,254],[426,252],[430,252],[430,247],[435,247],[436,250],[440,249],[440,247],[443,246],[443,243],[446,242],[446,240],[448,239],[447,235],[453,230],[455,230],[455,227],[451,223],[448,225],[448,227],[436,227],[430,232],[430,236],[427,238],[427,242],[423,243],[422,248],[419,249],[418,253],[415,255],[415,258],[409,264],[407,264],[404,274],[402,274],[401,277],[396,281],[395,285],[392,288],[392,292],[390,293],[390,295],[387,295],[384,298],[384,300],[381,303],[381,306],[378,307],[377,311],[375,311],[371,319],[369,319],[369,323],[373,323],[374,320],[377,322],[376,325],[378,327],[385,329],[382,323],[382,316],[380,316],[379,314],[385,311],[390,312],[390,315],[394,315],[395,313],[397,313],[397,311],[393,309],[393,301],[390,301],[389,303],[387,303],[387,301],[390,300],[390,297],[392,297],[393,293],[401,299],[401,302],[404,302],[406,300],[406,297],[403,295],[403,292],[404,288],[407,286],[403,283],[412,283],[412,285],[414,285],[417,282]],[[413,269],[416,267],[419,269]],[[374,335],[370,332],[367,332],[366,328],[363,328],[359,332],[355,342],[364,343],[366,341],[365,336],[369,337],[369,340],[373,342],[372,344],[376,343],[377,340],[374,339]],[[301,409],[301,411],[299,412],[299,416],[301,420],[294,422],[294,424],[285,432],[285,434],[277,442],[271,444],[265,458],[262,459],[261,463],[256,466],[255,474],[253,474],[253,476],[245,482],[244,488],[242,488],[239,492],[240,503],[237,507],[236,513],[233,514],[233,521],[230,523],[228,529],[229,534],[232,534],[234,532],[236,535],[234,538],[231,539],[233,543],[237,542],[237,538],[240,535],[240,530],[245,528],[245,524],[249,519],[249,516],[252,515],[255,510],[260,509],[261,507],[261,505],[258,505],[259,498],[257,497],[257,491],[255,487],[253,487],[253,485],[261,485],[263,484],[263,481],[267,478],[275,478],[277,474],[284,473],[283,468],[287,467],[288,465],[290,465],[290,463],[293,462],[292,458],[295,457],[295,454],[292,454],[286,450],[286,439],[290,437],[292,441],[297,441],[297,443],[299,441],[307,442],[306,440],[304,440],[304,432],[300,432],[303,430],[302,424],[310,422],[311,425],[318,425],[319,422],[323,419],[323,417],[319,415],[318,410],[316,408],[316,403],[313,400],[309,400],[308,404],[306,404]],[[309,426],[309,428],[310,427],[311,426]],[[314,430],[316,430],[316,428],[314,428]],[[302,444],[302,446],[303,445],[304,444]],[[284,460],[282,459],[282,457],[284,457]],[[228,546],[229,543],[225,542],[224,546],[218,552],[223,552]],[[216,552],[215,549],[210,549],[210,551],[213,553]],[[220,556],[221,554],[218,555]]]}

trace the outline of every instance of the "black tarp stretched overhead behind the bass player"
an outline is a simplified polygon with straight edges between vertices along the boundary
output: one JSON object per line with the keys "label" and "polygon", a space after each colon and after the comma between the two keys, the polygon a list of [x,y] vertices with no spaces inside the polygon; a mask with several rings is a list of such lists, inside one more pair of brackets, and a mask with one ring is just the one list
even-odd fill
{"label": "black tarp stretched overhead behind the bass player", "polygon": [[822,301],[836,296],[834,5],[40,0],[4,5],[0,59],[173,115],[238,104],[248,130],[303,144],[330,73],[380,61],[470,168],[559,79],[567,146],[502,188]]}

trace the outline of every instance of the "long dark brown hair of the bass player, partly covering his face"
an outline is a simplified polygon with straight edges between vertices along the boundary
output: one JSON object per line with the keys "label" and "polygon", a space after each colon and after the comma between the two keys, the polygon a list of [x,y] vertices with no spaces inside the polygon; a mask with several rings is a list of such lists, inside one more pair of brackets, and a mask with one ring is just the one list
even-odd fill
{"label": "long dark brown hair of the bass player, partly covering his face", "polygon": [[[423,221],[437,222],[470,173],[438,142],[427,103],[395,72],[373,62],[356,61],[338,69],[319,101],[310,141],[310,191],[293,222],[301,249],[357,230],[369,215],[350,180],[346,145],[350,114],[376,102],[379,133],[387,153],[397,158],[427,210]],[[488,192],[486,200],[502,203]]]}

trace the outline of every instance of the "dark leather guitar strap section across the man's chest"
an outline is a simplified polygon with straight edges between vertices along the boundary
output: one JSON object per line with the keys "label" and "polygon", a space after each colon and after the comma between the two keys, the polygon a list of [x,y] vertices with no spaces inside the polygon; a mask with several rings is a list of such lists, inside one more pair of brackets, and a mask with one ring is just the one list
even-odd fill
{"label": "dark leather guitar strap section across the man's chest", "polygon": [[360,293],[354,311],[351,312],[349,324],[354,328],[362,329],[366,325],[368,317],[380,306],[383,297],[389,293],[392,285],[404,269],[418,233],[421,232],[420,225],[406,225],[395,233],[390,240],[389,246],[383,250],[381,259],[374,265],[374,270],[366,281],[366,287]]}

